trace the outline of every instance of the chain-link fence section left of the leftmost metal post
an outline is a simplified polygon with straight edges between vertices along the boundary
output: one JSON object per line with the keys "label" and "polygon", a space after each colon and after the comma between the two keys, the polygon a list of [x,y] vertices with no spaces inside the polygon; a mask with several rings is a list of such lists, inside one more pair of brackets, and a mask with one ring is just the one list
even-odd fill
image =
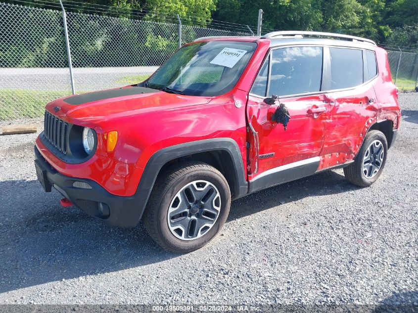
{"label": "chain-link fence section left of the leftmost metal post", "polygon": [[59,11],[0,3],[0,121],[42,115],[71,92]]}

